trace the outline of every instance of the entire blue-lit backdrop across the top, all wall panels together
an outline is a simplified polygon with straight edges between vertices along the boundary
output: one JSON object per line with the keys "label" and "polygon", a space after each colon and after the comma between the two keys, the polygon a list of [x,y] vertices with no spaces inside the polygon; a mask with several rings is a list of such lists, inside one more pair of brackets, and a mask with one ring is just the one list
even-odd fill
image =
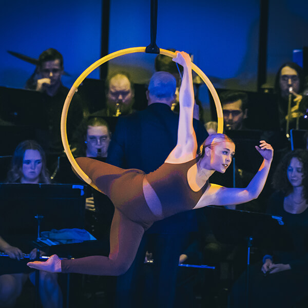
{"label": "entire blue-lit backdrop across the top, all wall panels together", "polygon": [[[63,77],[75,78],[100,57],[103,0],[1,1],[0,85],[23,87],[33,65],[7,53],[32,57],[49,47],[64,56]],[[280,64],[292,60],[292,50],[308,45],[304,0],[271,0],[267,68],[269,80]],[[259,0],[158,1],[157,44],[185,50],[220,88],[256,90]],[[150,0],[110,0],[109,52],[150,41]],[[154,70],[153,55],[123,56],[110,63],[110,72],[128,70],[135,82],[145,82]],[[90,77],[99,78],[99,72]]]}

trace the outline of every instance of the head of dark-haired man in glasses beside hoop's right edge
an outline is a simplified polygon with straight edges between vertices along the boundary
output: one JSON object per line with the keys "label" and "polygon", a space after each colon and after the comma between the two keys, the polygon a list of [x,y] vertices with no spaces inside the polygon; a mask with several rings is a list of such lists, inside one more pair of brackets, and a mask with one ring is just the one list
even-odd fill
{"label": "head of dark-haired man in glasses beside hoop's right edge", "polygon": [[247,94],[244,92],[226,91],[220,95],[224,130],[245,129],[247,118]]}

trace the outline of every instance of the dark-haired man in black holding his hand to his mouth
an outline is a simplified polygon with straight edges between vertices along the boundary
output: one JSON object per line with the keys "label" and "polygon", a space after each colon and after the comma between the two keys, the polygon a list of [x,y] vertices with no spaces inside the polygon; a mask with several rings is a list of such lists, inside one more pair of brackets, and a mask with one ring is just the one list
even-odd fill
{"label": "dark-haired man in black holding his hand to his mouth", "polygon": [[[42,93],[41,102],[44,107],[40,117],[43,121],[41,127],[37,128],[37,138],[39,138],[44,149],[49,152],[63,152],[60,122],[63,103],[69,91],[62,84],[63,73],[62,54],[53,48],[49,48],[38,57],[38,65],[26,85],[27,89]],[[67,119],[68,140],[70,142],[74,131],[87,115],[87,106],[80,95],[76,93]]]}

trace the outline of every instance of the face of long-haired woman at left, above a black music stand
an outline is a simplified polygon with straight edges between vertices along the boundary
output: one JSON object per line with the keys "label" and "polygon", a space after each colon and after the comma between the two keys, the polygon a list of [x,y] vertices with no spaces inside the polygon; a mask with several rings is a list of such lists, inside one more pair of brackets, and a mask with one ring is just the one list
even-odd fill
{"label": "face of long-haired woman at left, above a black music stand", "polygon": [[38,183],[42,171],[42,156],[38,150],[28,149],[25,151],[23,160],[23,183]]}

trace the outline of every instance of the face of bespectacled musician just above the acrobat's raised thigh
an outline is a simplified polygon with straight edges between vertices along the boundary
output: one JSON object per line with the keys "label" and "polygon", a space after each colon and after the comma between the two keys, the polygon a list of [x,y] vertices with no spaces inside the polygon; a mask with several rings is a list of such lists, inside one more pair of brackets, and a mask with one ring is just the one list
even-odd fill
{"label": "face of bespectacled musician just above the acrobat's raised thigh", "polygon": [[87,157],[107,157],[110,133],[107,126],[88,126]]}

